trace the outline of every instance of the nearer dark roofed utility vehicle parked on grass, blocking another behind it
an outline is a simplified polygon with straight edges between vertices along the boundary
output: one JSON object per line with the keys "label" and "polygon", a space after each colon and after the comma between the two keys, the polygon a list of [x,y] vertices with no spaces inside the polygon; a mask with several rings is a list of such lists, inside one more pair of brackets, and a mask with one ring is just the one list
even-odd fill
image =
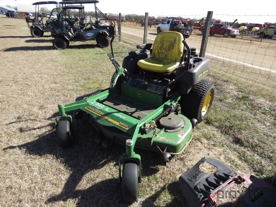
{"label": "nearer dark roofed utility vehicle parked on grass, blocking another behind it", "polygon": [[[90,21],[85,24],[84,6],[82,5],[69,5],[66,4],[94,4],[96,20],[93,23]],[[66,49],[71,42],[85,42],[96,40],[98,47],[108,47],[112,35],[116,35],[114,20],[108,19],[97,7],[98,1],[80,0],[80,1],[63,1],[61,4],[63,10],[60,14],[60,21],[51,23],[51,35],[54,38],[53,46],[56,49]],[[79,11],[79,18],[70,17],[71,10]],[[99,13],[99,14],[98,14]],[[98,15],[103,18],[99,19]],[[105,21],[101,23],[101,21]]]}

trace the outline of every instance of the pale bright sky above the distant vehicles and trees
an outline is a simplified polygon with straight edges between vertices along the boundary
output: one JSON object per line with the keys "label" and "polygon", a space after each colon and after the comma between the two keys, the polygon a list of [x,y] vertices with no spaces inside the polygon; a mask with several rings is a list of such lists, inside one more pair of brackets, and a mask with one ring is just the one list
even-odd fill
{"label": "pale bright sky above the distant vehicles and trees", "polygon": [[[17,4],[32,5],[35,2],[46,0],[0,0],[0,5],[16,6]],[[55,1],[55,0],[52,0]],[[57,1],[57,0],[56,0]],[[57,1],[61,2],[61,1]],[[181,3],[180,3],[181,2]],[[86,4],[85,11],[94,11],[94,5]],[[54,6],[45,5],[49,10]],[[162,16],[162,17],[183,17],[201,19],[207,16],[208,11],[213,12],[214,19],[233,22],[237,19],[239,23],[275,23],[276,12],[273,0],[266,0],[265,4],[256,4],[253,1],[231,0],[231,1],[181,1],[181,0],[99,0],[98,9],[103,13]]]}

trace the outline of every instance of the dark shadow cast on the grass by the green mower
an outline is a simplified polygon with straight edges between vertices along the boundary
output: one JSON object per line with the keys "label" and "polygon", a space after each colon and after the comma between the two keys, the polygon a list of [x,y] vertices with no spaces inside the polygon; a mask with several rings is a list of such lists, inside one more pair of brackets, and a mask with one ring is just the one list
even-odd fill
{"label": "dark shadow cast on the grass by the green mower", "polygon": [[[56,116],[57,114],[52,115],[48,120],[52,120],[53,117]],[[26,152],[31,155],[53,155],[56,159],[61,160],[66,166],[68,166],[71,170],[71,174],[64,184],[62,192],[48,198],[46,204],[76,198],[78,199],[78,206],[98,206],[99,204],[102,206],[129,206],[129,203],[124,203],[122,200],[121,187],[116,178],[93,183],[90,187],[84,190],[76,189],[83,176],[91,170],[100,169],[110,162],[114,162],[114,167],[118,168],[118,158],[125,152],[125,147],[123,145],[114,144],[108,149],[100,147],[93,139],[91,139],[95,137],[96,131],[93,129],[90,130],[91,125],[86,119],[74,120],[75,143],[72,148],[67,149],[58,146],[54,123],[39,128],[20,128],[20,132],[24,133],[46,127],[50,127],[50,130],[39,135],[35,141],[18,146],[9,146],[3,149],[8,150],[19,148],[26,150]],[[143,149],[135,149],[135,152],[141,155],[143,176],[150,176],[159,171],[158,164],[160,157],[157,153]],[[169,184],[166,187],[171,191],[170,189],[174,189],[175,185],[176,184]],[[169,188],[170,186],[173,187]],[[152,206],[154,206],[154,201],[158,198],[162,190],[163,188],[153,196],[147,198],[146,201],[144,201],[146,204],[142,205],[149,206],[148,204],[151,203]],[[175,193],[175,191],[172,190],[172,195],[175,196],[176,194],[179,193]]]}

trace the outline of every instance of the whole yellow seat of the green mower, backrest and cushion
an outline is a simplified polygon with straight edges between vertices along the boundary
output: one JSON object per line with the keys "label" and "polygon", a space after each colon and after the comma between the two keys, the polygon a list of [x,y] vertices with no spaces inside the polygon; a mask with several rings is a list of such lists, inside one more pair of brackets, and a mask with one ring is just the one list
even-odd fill
{"label": "whole yellow seat of the green mower, backrest and cushion", "polygon": [[170,72],[180,65],[183,55],[183,35],[179,32],[161,32],[153,44],[152,56],[138,61],[139,67],[154,72]]}

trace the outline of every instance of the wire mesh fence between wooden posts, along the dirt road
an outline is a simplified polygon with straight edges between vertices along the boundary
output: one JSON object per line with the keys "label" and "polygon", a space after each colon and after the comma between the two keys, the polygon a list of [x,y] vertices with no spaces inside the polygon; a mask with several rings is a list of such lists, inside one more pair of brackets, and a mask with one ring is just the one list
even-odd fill
{"label": "wire mesh fence between wooden posts, along the dirt road", "polygon": [[[157,25],[142,26],[139,21],[121,23],[120,40],[128,44],[154,43]],[[186,39],[190,47],[200,51],[201,31],[194,27]],[[260,39],[256,33],[241,32],[236,38],[222,35],[208,37],[205,57],[211,61],[213,74],[235,84],[250,85],[252,90],[262,90],[276,97],[276,39]]]}

